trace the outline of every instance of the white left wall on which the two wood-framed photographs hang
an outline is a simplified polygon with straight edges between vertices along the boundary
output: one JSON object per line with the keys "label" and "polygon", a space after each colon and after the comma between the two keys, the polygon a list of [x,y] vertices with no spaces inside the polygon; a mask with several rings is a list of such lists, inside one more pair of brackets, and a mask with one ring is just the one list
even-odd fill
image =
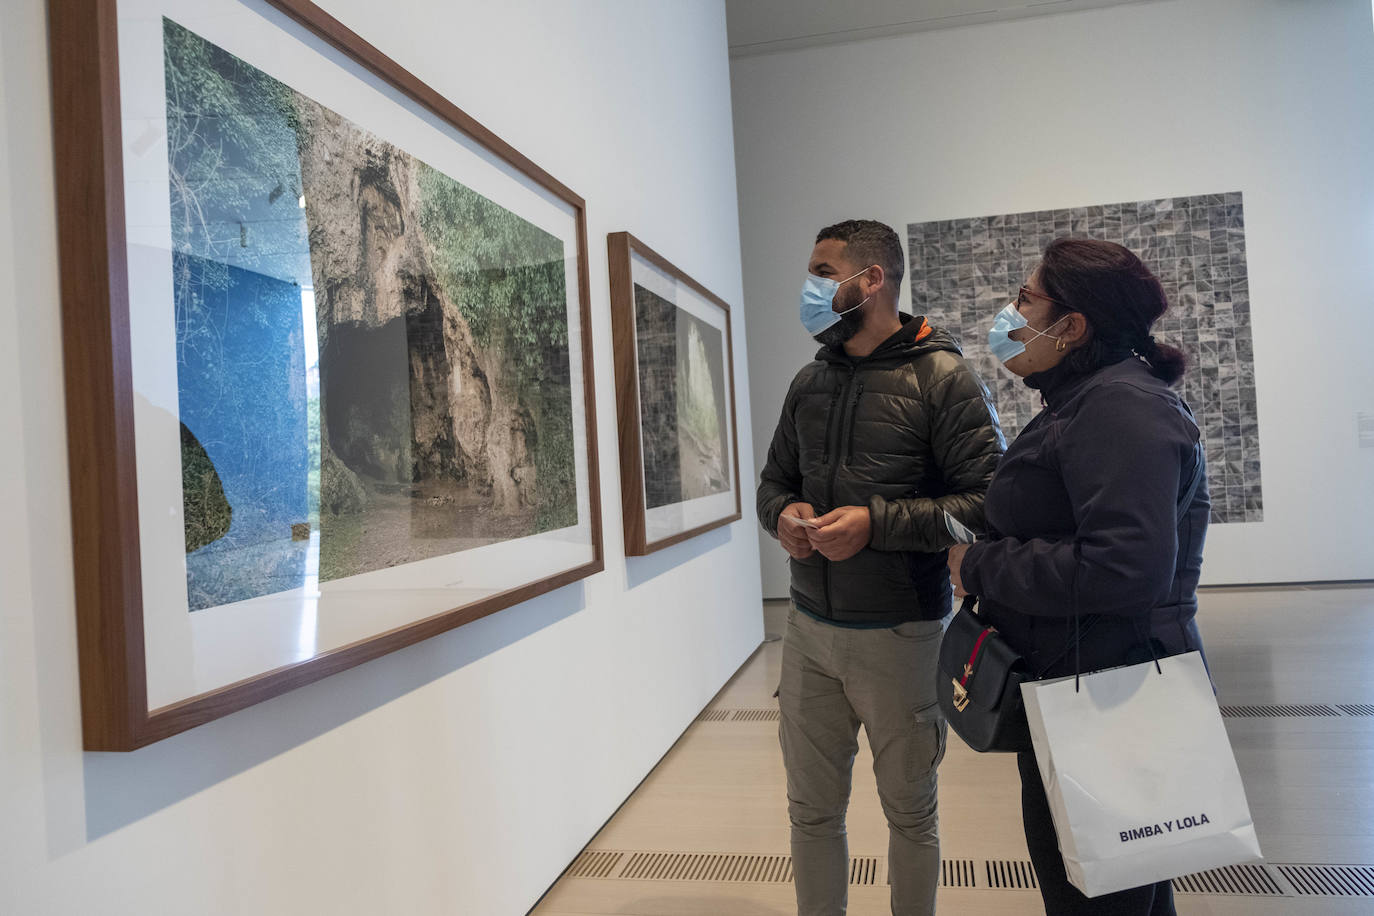
{"label": "white left wall on which the two wood-framed photographs hang", "polygon": [[723,5],[322,5],[587,199],[606,571],[137,753],[84,754],[47,14],[5,0],[0,913],[523,913],[763,637],[752,509],[628,562],[620,529],[620,229],[736,306],[753,504]]}

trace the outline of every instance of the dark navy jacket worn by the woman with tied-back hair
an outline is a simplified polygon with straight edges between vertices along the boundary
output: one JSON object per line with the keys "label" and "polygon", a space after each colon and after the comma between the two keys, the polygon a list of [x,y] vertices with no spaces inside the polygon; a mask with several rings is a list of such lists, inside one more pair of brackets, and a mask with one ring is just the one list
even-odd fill
{"label": "dark navy jacket worn by the woman with tied-back hair", "polygon": [[[1194,617],[1210,499],[1183,400],[1129,357],[1088,375],[1041,375],[1046,409],[988,489],[989,538],[960,566],[965,591],[1040,677],[1201,650]],[[1179,500],[1204,474],[1183,512]]]}

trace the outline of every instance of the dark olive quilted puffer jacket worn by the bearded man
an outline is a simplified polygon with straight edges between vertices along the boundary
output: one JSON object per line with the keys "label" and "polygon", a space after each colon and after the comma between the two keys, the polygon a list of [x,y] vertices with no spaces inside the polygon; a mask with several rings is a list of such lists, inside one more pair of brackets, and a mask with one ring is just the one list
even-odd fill
{"label": "dark olive quilted puffer jacket worn by the bearded man", "polygon": [[778,534],[791,503],[816,515],[866,505],[868,545],[833,563],[791,559],[791,597],[846,625],[937,619],[949,611],[944,512],[984,529],[982,497],[1006,441],[987,386],[955,338],[925,319],[870,356],[822,349],[783,402],[758,483],[758,519]]}

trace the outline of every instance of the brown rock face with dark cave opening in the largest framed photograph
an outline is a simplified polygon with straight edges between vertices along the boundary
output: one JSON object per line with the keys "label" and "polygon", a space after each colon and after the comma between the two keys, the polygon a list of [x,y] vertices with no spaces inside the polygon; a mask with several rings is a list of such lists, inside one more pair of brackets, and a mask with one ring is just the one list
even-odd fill
{"label": "brown rock face with dark cave opening in the largest framed photograph", "polygon": [[308,100],[300,158],[320,346],[322,509],[444,482],[496,512],[534,503],[533,423],[436,277],[416,162]]}

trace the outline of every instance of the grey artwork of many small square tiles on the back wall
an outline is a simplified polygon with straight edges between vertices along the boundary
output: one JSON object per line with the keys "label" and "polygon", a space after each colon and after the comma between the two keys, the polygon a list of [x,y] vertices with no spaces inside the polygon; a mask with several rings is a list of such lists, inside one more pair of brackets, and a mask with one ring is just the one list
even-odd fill
{"label": "grey artwork of many small square tiles on the back wall", "polygon": [[1010,441],[1039,412],[1040,397],[992,357],[987,330],[1044,246],[1066,235],[1124,244],[1160,277],[1171,308],[1154,335],[1189,356],[1182,391],[1206,441],[1212,520],[1261,522],[1239,192],[912,222],[907,227],[912,313],[960,338],[965,356],[992,389]]}

